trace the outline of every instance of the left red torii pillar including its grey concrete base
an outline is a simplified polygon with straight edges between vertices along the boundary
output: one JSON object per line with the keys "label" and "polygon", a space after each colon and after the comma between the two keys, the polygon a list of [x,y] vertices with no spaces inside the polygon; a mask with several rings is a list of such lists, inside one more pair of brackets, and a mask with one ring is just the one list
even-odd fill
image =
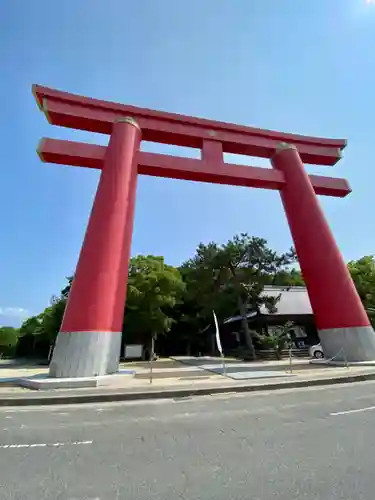
{"label": "left red torii pillar including its grey concrete base", "polygon": [[[118,364],[140,140],[133,119],[114,124],[51,363],[53,376],[105,374]],[[73,357],[80,359],[68,368],[66,351],[74,345]]]}

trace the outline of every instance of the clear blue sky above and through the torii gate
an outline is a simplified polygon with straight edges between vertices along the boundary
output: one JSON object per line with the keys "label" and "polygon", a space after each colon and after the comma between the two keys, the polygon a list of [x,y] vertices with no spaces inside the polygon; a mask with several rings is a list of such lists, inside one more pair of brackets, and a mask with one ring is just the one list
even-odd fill
{"label": "clear blue sky above and through the torii gate", "polygon": [[[352,185],[346,199],[321,199],[349,260],[375,252],[374,47],[375,4],[365,0],[2,0],[0,324],[39,313],[64,286],[98,181],[95,171],[41,164],[39,139],[106,141],[48,125],[33,100],[33,83],[346,137],[336,167],[307,168]],[[200,241],[224,242],[239,232],[286,250],[292,241],[279,194],[140,179],[133,254],[179,264]]]}

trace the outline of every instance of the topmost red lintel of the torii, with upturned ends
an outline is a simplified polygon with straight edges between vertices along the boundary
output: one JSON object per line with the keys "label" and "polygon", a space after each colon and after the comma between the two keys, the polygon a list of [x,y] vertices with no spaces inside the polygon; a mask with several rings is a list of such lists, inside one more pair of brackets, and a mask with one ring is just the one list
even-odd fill
{"label": "topmost red lintel of the torii, with upturned ends", "polygon": [[241,125],[154,111],[78,96],[33,85],[39,107],[53,125],[110,134],[113,123],[130,116],[142,129],[145,141],[202,149],[211,140],[225,153],[271,158],[280,142],[294,144],[305,163],[334,165],[346,146],[344,139],[323,139],[284,134]]}

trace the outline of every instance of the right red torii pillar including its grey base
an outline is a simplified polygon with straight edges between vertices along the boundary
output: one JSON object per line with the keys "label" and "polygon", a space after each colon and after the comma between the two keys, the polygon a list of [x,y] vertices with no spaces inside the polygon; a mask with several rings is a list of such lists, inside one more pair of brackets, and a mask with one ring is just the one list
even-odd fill
{"label": "right red torii pillar including its grey base", "polygon": [[[353,352],[356,349],[358,351],[358,346],[354,346],[357,341],[349,337],[353,337],[354,331],[355,336],[358,336],[364,328],[367,333],[362,330],[362,334],[369,335],[370,344],[373,344],[372,347],[367,347],[367,350],[373,350],[370,359],[375,359],[375,341],[372,342],[374,334],[367,314],[297,149],[288,144],[281,144],[272,163],[285,176],[286,185],[281,191],[281,199],[316,325],[323,347],[326,346],[329,351],[326,355],[335,356],[337,352],[334,351],[342,346],[347,350],[347,357],[363,357],[363,353]],[[339,330],[342,335],[334,338],[334,335],[340,333]]]}

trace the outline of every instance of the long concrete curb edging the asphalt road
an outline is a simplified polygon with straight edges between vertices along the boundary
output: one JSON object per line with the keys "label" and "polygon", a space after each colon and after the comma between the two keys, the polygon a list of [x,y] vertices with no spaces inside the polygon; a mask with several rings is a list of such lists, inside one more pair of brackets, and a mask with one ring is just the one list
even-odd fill
{"label": "long concrete curb edging the asphalt road", "polygon": [[312,380],[291,380],[288,382],[275,382],[259,385],[238,385],[238,386],[219,386],[219,387],[197,387],[197,388],[175,388],[169,390],[150,390],[150,391],[117,391],[117,392],[89,392],[87,394],[67,394],[50,395],[30,395],[30,396],[1,396],[0,406],[49,406],[49,405],[68,405],[84,403],[108,403],[118,401],[137,401],[149,399],[178,399],[192,396],[209,396],[211,394],[225,393],[244,393],[274,391],[280,389],[298,389],[303,387],[319,387],[328,385],[337,385],[353,382],[364,382],[366,380],[375,380],[374,373],[364,373],[360,375],[347,375],[343,377],[312,379]]}

